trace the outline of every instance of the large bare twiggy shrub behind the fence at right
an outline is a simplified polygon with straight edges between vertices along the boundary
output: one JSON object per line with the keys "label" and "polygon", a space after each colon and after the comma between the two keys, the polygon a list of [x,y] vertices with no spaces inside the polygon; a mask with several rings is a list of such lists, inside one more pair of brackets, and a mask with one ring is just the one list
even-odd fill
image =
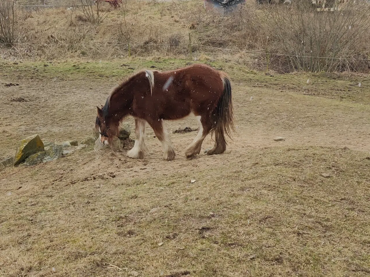
{"label": "large bare twiggy shrub behind the fence at right", "polygon": [[[334,7],[339,10],[317,11],[305,0],[289,6],[266,6],[266,49],[290,55],[271,57],[272,65],[289,72],[369,70],[364,53],[369,47],[370,4],[350,0]],[[352,58],[365,59],[353,63]]]}

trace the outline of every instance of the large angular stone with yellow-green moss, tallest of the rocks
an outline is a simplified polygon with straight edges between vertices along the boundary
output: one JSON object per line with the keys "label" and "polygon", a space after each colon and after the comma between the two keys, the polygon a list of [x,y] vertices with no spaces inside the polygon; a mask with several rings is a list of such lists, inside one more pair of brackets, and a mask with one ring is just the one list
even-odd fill
{"label": "large angular stone with yellow-green moss, tallest of the rocks", "polygon": [[19,165],[26,158],[30,157],[30,155],[42,151],[45,151],[44,143],[38,134],[23,138],[14,156],[14,165]]}

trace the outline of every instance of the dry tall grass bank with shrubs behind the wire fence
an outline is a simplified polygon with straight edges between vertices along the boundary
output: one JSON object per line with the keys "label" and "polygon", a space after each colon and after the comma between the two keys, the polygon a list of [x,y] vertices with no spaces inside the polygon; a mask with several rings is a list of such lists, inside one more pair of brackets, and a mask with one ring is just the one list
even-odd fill
{"label": "dry tall grass bank with shrubs behind the wire fence", "polygon": [[[279,72],[370,70],[370,4],[365,1],[349,2],[334,13],[317,12],[303,0],[262,6],[249,0],[232,13],[208,11],[201,0],[125,0],[118,10],[108,4],[101,10],[108,15],[99,25],[91,24],[82,9],[28,12],[16,27],[21,41],[36,45],[18,45],[17,55],[111,59],[127,57],[129,44],[132,55],[188,56],[190,33],[193,57],[222,56]],[[279,55],[259,54],[264,52]]]}

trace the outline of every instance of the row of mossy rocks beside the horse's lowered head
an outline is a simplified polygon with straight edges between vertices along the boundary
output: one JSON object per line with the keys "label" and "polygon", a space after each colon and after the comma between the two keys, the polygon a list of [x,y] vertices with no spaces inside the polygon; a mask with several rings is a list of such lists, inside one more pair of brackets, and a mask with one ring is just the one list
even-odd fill
{"label": "row of mossy rocks beside the horse's lowered head", "polygon": [[112,148],[115,151],[127,151],[134,146],[135,141],[130,136],[130,128],[125,125],[120,128],[120,134],[111,146],[105,146],[100,142],[99,133],[94,137],[87,137],[79,144],[77,140],[64,141],[63,143],[52,143],[42,141],[38,134],[26,137],[20,141],[16,154],[0,161],[0,166],[36,165],[57,160],[60,157],[74,153],[77,150],[94,145],[94,150]]}

